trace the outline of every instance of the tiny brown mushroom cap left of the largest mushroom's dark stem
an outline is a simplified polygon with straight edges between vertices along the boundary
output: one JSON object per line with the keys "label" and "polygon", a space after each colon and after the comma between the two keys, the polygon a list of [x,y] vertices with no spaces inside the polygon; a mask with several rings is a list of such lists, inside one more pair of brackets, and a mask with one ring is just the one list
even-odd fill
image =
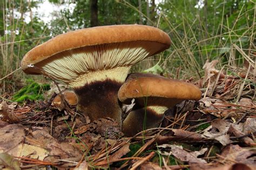
{"label": "tiny brown mushroom cap left of the largest mushroom's dark stem", "polygon": [[[62,92],[62,94],[64,96],[64,100],[68,102],[69,105],[77,105],[78,98],[74,91],[65,90]],[[55,96],[55,98],[53,98],[51,105],[58,108],[59,111],[62,111],[64,109],[64,103],[62,102],[62,98],[60,97],[60,94],[58,94],[57,96]]]}

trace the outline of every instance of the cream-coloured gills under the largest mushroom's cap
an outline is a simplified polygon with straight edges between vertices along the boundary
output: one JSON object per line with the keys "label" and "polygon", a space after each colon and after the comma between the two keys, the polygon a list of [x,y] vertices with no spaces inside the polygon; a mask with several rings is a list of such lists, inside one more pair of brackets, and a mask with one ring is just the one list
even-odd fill
{"label": "cream-coloured gills under the largest mushroom's cap", "polygon": [[130,67],[152,55],[159,46],[161,44],[158,42],[147,41],[86,46],[60,52],[35,66],[42,67],[55,79],[64,81],[71,87],[81,87],[84,83],[105,79],[100,74],[124,82],[126,76],[123,75],[129,72]]}

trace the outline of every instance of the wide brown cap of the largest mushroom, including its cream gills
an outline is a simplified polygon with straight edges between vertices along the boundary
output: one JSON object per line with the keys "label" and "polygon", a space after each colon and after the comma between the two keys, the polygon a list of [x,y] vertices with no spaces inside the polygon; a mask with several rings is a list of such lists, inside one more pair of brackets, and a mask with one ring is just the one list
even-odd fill
{"label": "wide brown cap of the largest mushroom, including its cream gills", "polygon": [[170,43],[168,34],[152,26],[92,27],[60,34],[31,49],[21,66],[28,74],[41,74],[32,65],[43,68],[71,87],[81,87],[95,77],[104,80],[105,70],[110,70],[110,79],[122,82],[126,75],[120,75],[121,70],[127,74],[132,65],[164,51]]}

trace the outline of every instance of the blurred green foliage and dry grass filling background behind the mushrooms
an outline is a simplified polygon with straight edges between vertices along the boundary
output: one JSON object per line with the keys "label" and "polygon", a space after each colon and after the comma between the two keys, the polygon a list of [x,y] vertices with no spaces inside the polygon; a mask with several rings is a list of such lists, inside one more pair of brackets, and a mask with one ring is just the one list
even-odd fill
{"label": "blurred green foliage and dry grass filling background behind the mushrooms", "polygon": [[[44,23],[41,13],[32,12],[43,1],[1,1],[0,2],[0,77],[19,68],[22,57],[31,48],[57,34],[70,30],[90,27],[90,0],[50,0],[56,5],[70,5],[60,12],[52,11],[54,18]],[[150,24],[169,33],[170,49],[133,66],[133,72],[150,72],[174,77],[179,68],[180,79],[203,75],[205,61],[218,59],[219,67],[231,59],[241,66],[243,56],[232,53],[233,45],[240,47],[247,55],[253,49],[255,37],[255,3],[234,0],[173,0],[142,1],[142,13],[138,0],[98,0],[99,25]],[[200,6],[199,2],[203,2]],[[31,21],[25,21],[30,18]],[[142,19],[142,20],[140,20]],[[147,23],[147,20],[150,20]],[[217,66],[218,67],[218,66]],[[190,73],[190,74],[188,74]],[[192,74],[192,75],[191,75]],[[21,72],[13,75],[12,81],[19,80]],[[0,82],[1,87],[9,82]],[[12,82],[13,83],[13,82]],[[4,89],[2,91],[5,91]]]}

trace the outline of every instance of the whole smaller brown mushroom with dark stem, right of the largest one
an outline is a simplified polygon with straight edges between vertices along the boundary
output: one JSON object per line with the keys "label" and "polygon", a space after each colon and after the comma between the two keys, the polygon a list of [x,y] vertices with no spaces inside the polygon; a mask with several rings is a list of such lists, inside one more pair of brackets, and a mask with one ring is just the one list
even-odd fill
{"label": "whole smaller brown mushroom with dark stem, right of the largest one", "polygon": [[199,100],[201,91],[191,83],[167,79],[163,76],[133,73],[118,91],[124,104],[135,99],[133,110],[123,122],[126,136],[150,128],[156,128],[164,118],[164,112],[184,100]]}

